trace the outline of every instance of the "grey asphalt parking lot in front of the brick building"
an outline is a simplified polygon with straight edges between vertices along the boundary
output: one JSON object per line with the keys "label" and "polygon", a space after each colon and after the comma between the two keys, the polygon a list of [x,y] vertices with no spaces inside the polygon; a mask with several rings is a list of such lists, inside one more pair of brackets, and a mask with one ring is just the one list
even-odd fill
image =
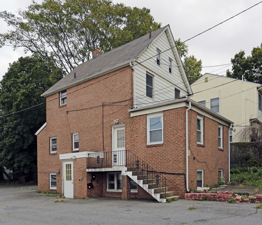
{"label": "grey asphalt parking lot in front of the brick building", "polygon": [[[12,187],[7,187],[12,188]],[[27,188],[27,187],[25,187]],[[0,187],[0,224],[261,224],[255,203],[178,200],[122,201],[120,198],[64,199],[30,189]],[[189,207],[196,207],[189,210]]]}

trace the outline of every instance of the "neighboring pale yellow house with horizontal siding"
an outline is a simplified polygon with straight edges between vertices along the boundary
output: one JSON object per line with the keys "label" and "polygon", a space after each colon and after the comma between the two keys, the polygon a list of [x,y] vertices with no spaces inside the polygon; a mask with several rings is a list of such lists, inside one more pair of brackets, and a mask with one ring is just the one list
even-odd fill
{"label": "neighboring pale yellow house with horizontal siding", "polygon": [[261,84],[205,73],[191,88],[193,100],[234,122],[231,142],[249,141],[242,130],[262,122]]}

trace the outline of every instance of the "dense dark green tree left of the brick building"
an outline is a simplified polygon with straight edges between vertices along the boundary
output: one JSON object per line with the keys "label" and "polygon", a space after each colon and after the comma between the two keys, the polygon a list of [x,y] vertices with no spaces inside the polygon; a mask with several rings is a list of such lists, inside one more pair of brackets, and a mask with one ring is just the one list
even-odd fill
{"label": "dense dark green tree left of the brick building", "polygon": [[[65,72],[38,56],[9,64],[0,82],[0,116],[44,103],[40,95]],[[28,173],[36,167],[36,131],[46,121],[46,104],[0,118],[0,167]]]}

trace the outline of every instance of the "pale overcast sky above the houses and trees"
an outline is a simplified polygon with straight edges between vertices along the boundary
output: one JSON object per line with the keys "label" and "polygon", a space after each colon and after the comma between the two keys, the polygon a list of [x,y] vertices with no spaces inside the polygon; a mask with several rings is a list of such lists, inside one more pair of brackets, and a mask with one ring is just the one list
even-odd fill
{"label": "pale overcast sky above the houses and trees", "polygon": [[[41,2],[38,0],[36,2]],[[113,0],[130,7],[149,8],[156,22],[162,26],[170,25],[173,37],[185,41],[241,11],[255,5],[260,0]],[[0,11],[16,13],[19,8],[26,9],[31,0],[1,0]],[[262,3],[230,19],[229,21],[186,42],[189,55],[202,60],[201,73],[225,75],[230,66],[210,67],[231,63],[236,53],[244,50],[251,55],[253,47],[262,42]],[[0,33],[7,32],[7,27],[0,19]],[[0,48],[0,79],[7,72],[9,63],[25,56],[23,49],[13,51],[12,47]]]}

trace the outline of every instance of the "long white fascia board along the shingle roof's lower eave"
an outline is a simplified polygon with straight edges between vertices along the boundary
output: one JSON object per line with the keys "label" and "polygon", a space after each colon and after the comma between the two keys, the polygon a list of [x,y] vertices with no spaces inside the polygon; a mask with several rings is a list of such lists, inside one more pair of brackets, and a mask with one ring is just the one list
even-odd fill
{"label": "long white fascia board along the shingle roof's lower eave", "polygon": [[127,62],[121,63],[121,64],[119,64],[119,65],[117,65],[117,66],[114,66],[114,67],[112,67],[112,68],[109,68],[109,69],[107,69],[107,70],[103,70],[103,71],[100,71],[99,73],[95,73],[95,74],[93,74],[93,75],[90,75],[90,76],[87,76],[87,77],[85,77],[85,78],[82,78],[82,79],[80,79],[80,80],[78,80],[78,81],[76,81],[76,82],[70,83],[70,84],[68,84],[68,85],[61,86],[60,88],[57,88],[57,89],[55,89],[55,90],[52,90],[52,91],[50,91],[50,92],[48,92],[48,93],[46,93],[46,94],[41,94],[41,96],[42,96],[42,97],[47,97],[47,96],[49,96],[49,95],[51,95],[51,94],[54,94],[54,93],[63,91],[63,90],[65,90],[65,89],[67,89],[67,88],[71,88],[71,87],[73,87],[73,86],[75,86],[75,85],[77,85],[77,84],[83,83],[83,82],[88,81],[88,80],[91,80],[91,79],[93,79],[93,78],[100,77],[100,76],[102,76],[102,75],[104,75],[104,74],[113,72],[113,71],[118,70],[118,69],[120,69],[120,68],[123,68],[123,67],[125,67],[125,66],[130,66],[130,62],[133,62],[133,61],[134,61],[134,59],[131,59],[131,60],[127,61]]}

